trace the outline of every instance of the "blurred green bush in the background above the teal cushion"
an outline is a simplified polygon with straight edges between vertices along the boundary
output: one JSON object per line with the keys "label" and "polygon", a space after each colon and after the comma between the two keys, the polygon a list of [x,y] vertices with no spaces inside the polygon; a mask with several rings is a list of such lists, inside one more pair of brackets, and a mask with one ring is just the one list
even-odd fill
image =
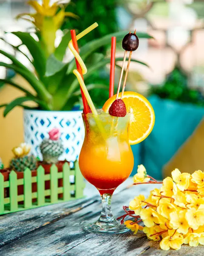
{"label": "blurred green bush in the background above the teal cushion", "polygon": [[204,106],[204,97],[201,92],[190,89],[187,86],[187,81],[187,76],[178,67],[175,67],[172,73],[167,76],[164,84],[152,86],[150,93],[156,94],[163,99],[172,99]]}

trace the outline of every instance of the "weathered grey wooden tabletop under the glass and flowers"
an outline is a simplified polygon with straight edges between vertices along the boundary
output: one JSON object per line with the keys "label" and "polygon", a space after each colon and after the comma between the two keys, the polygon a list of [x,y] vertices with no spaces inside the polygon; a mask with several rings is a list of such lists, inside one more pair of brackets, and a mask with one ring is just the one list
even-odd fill
{"label": "weathered grey wooden tabletop under the glass and flowers", "polygon": [[[115,192],[112,210],[123,214],[123,205],[139,194],[147,196],[153,185],[132,186],[126,180]],[[158,186],[159,187],[159,186]],[[87,183],[85,199],[0,216],[0,256],[137,256],[204,255],[204,246],[183,245],[181,250],[163,251],[142,232],[96,235],[83,231],[83,225],[95,221],[101,211],[98,191]]]}

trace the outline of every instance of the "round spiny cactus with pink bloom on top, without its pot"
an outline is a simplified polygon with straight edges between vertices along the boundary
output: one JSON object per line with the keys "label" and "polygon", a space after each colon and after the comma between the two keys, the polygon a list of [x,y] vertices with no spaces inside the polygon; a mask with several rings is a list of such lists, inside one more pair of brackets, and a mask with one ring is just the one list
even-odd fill
{"label": "round spiny cactus with pink bloom on top, without its pot", "polygon": [[40,144],[40,151],[45,163],[57,163],[63,154],[64,148],[60,140],[60,131],[57,128],[49,131],[49,139],[44,139]]}

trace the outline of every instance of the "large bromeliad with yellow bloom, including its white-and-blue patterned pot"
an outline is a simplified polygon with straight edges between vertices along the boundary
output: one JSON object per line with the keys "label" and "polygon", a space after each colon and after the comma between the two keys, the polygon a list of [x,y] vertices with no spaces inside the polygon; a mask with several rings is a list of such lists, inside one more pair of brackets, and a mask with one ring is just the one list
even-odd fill
{"label": "large bromeliad with yellow bloom, including its white-and-blue patterned pot", "polygon": [[[22,90],[25,96],[16,98],[0,107],[5,107],[4,116],[16,106],[24,108],[25,141],[33,145],[32,154],[41,156],[40,142],[48,137],[51,128],[56,127],[60,128],[62,132],[61,139],[65,148],[60,160],[66,158],[74,161],[78,156],[82,143],[81,138],[83,138],[80,111],[71,111],[80,102],[80,87],[78,80],[72,73],[75,68],[75,60],[63,61],[68,43],[71,40],[70,32],[63,31],[63,37],[57,47],[55,47],[55,39],[56,31],[61,27],[65,17],[78,18],[78,16],[72,12],[66,12],[65,6],[61,5],[59,1],[52,6],[49,5],[49,0],[43,0],[42,5],[36,1],[29,1],[28,3],[36,10],[36,13],[22,14],[19,15],[19,18],[30,20],[34,24],[37,39],[34,39],[28,32],[13,32],[22,41],[22,44],[13,47],[18,52],[21,52],[21,45],[27,47],[32,58],[27,55],[26,57],[29,59],[34,72],[25,67],[13,55],[1,49],[0,54],[9,58],[12,64],[0,62],[0,66],[14,70],[17,74],[23,76],[35,93],[31,93],[11,79],[1,79],[0,82],[5,82]],[[116,36],[121,41],[126,33],[123,31],[106,35],[103,38],[90,41],[80,48],[80,56],[88,68],[88,73],[84,76],[85,82],[96,70],[110,62],[109,58],[106,58],[97,50],[110,44],[112,36]],[[150,38],[146,33],[140,32],[138,32],[138,37]],[[4,40],[4,38],[1,39]],[[21,53],[25,55],[23,52]],[[116,59],[116,61],[121,60],[122,58]],[[87,84],[88,90],[96,87],[104,87],[104,85],[98,84],[97,81],[94,84]],[[28,101],[35,102],[37,107],[30,109],[26,106]],[[66,130],[63,130],[65,128]]]}

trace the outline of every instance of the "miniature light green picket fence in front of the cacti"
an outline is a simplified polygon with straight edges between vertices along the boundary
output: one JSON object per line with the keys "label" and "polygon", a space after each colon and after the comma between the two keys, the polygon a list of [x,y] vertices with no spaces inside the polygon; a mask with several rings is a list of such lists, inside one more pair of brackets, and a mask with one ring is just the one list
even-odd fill
{"label": "miniature light green picket fence in front of the cacti", "polygon": [[[74,182],[70,183],[70,176]],[[58,187],[58,179],[63,179],[62,187]],[[45,189],[47,180],[50,181],[50,189]],[[32,192],[32,183],[37,183],[37,192]],[[18,195],[20,185],[23,185],[23,195]],[[82,198],[84,187],[85,182],[77,161],[74,169],[65,163],[62,172],[58,172],[57,166],[52,165],[50,174],[46,175],[43,167],[39,166],[36,177],[32,177],[30,169],[26,169],[23,179],[17,179],[16,172],[11,171],[9,180],[4,181],[0,173],[0,215]],[[58,194],[62,196],[58,198]]]}

